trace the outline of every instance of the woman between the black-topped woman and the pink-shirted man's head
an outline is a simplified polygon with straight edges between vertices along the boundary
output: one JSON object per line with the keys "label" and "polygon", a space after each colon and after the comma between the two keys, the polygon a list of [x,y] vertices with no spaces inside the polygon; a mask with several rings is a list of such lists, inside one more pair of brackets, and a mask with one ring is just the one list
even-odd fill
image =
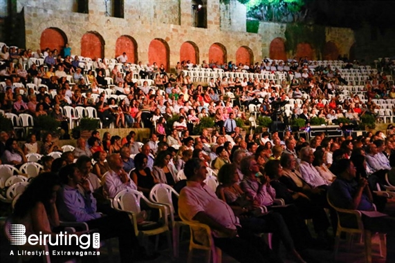
{"label": "woman between the black-topped woman and the pink-shirted man's head", "polygon": [[177,182],[176,171],[169,166],[170,159],[171,154],[167,150],[158,153],[152,168],[152,175],[158,182],[174,186]]}

